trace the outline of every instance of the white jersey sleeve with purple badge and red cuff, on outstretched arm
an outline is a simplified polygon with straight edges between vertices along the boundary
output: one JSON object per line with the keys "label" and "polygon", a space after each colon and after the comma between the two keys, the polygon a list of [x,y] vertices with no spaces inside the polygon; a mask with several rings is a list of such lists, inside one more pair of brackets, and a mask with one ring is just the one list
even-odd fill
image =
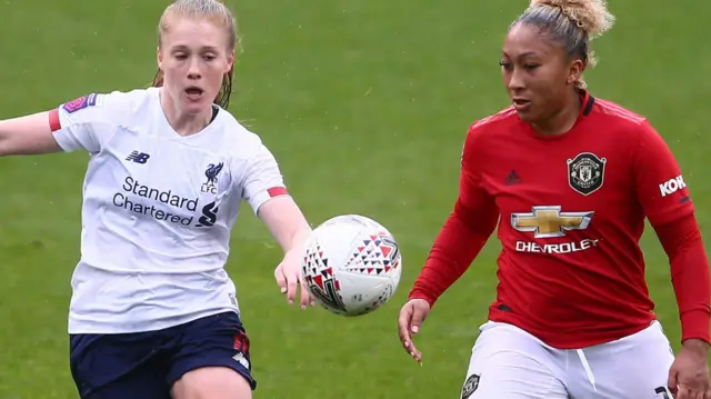
{"label": "white jersey sleeve with purple badge and red cuff, on outstretched arm", "polygon": [[127,94],[92,93],[66,102],[50,112],[54,139],[64,151],[99,152],[117,131],[126,114]]}

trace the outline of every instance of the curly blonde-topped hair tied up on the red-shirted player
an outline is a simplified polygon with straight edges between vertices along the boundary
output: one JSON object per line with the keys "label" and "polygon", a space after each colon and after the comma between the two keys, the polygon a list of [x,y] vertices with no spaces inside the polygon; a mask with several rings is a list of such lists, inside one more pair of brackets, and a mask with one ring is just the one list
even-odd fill
{"label": "curly blonde-topped hair tied up on the red-shirted player", "polygon": [[[605,0],[531,0],[509,30],[518,24],[539,28],[548,40],[565,51],[569,59],[580,59],[585,69],[597,63],[590,42],[612,28],[614,16],[608,11]],[[587,88],[582,77],[575,88]]]}

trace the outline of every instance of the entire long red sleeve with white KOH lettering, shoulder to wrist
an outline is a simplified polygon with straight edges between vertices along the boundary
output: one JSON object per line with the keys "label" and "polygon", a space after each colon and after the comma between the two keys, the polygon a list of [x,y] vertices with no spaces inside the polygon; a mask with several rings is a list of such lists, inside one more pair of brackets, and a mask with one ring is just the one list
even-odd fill
{"label": "entire long red sleeve with white KOH lettering, shoulder to wrist", "polygon": [[632,159],[638,200],[669,257],[682,341],[693,338],[709,342],[709,261],[679,164],[649,123]]}

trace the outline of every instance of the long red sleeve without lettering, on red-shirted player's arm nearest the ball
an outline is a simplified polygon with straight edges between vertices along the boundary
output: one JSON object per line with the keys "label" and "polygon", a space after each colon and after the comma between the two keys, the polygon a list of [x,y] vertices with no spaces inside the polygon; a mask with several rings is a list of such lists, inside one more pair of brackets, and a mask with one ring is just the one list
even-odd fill
{"label": "long red sleeve without lettering, on red-shirted player's arm nearest the ball", "polygon": [[433,306],[437,299],[467,271],[493,232],[499,220],[494,198],[483,187],[477,124],[464,142],[454,210],[440,230],[430,255],[410,291],[409,299],[421,298]]}

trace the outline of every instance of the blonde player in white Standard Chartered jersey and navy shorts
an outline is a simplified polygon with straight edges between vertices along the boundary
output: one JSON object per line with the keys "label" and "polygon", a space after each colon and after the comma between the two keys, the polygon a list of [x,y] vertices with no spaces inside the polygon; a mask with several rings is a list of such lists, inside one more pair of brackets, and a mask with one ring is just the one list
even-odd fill
{"label": "blonde player in white Standard Chartered jersey and navy shorts", "polygon": [[[69,312],[81,398],[251,397],[249,339],[223,268],[241,200],[283,248],[276,278],[296,300],[310,227],[274,157],[224,111],[236,42],[224,4],[176,1],[160,19],[153,88],[0,122],[0,156],[91,154]],[[300,299],[310,303],[303,288]]]}

